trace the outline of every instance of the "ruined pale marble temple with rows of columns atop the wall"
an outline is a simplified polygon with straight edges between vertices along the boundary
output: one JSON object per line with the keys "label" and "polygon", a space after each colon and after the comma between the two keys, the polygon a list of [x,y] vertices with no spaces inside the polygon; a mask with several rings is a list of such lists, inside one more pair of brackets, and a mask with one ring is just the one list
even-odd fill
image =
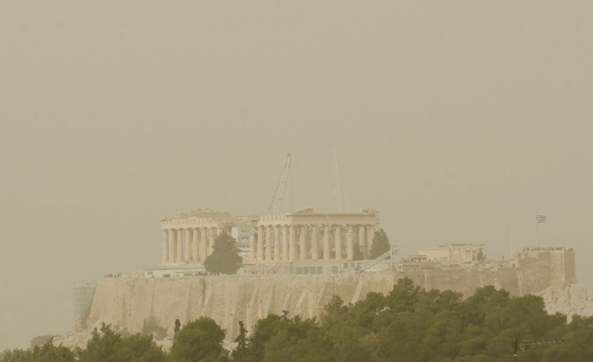
{"label": "ruined pale marble temple with rows of columns atop the wall", "polygon": [[237,217],[202,209],[161,219],[162,265],[203,263],[222,232],[248,248],[246,263],[352,261],[368,257],[378,212],[316,213],[305,208],[281,215]]}

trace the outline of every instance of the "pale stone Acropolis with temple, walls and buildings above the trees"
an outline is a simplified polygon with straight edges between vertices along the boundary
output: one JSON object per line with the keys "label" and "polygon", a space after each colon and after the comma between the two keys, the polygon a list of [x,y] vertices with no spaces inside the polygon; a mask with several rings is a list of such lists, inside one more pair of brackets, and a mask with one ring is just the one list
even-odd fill
{"label": "pale stone Acropolis with temple, walls and buildings above the trees", "polygon": [[[388,292],[408,277],[425,289],[472,294],[494,285],[512,295],[562,289],[576,283],[574,251],[534,248],[514,259],[486,260],[483,245],[443,244],[391,262],[354,261],[355,249],[368,258],[378,212],[319,214],[312,209],[259,218],[196,210],[161,219],[161,265],[134,276],[108,276],[79,301],[77,328],[99,321],[128,332],[147,325],[167,330],[209,316],[237,334],[239,321],[252,330],[267,314],[319,316],[332,296],[355,303],[368,292]],[[239,274],[206,275],[203,260],[215,235],[238,240],[244,267]],[[156,247],[156,245],[155,245]],[[388,252],[387,254],[390,254]],[[370,267],[368,267],[370,265]]]}

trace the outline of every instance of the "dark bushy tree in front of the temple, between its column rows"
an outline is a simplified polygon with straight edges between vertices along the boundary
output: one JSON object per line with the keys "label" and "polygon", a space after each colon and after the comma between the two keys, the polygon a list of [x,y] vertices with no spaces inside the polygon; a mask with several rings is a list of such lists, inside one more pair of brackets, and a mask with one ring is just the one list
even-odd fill
{"label": "dark bushy tree in front of the temple, between its column rows", "polygon": [[241,268],[243,258],[239,255],[237,241],[223,232],[214,239],[214,250],[204,261],[208,272],[235,274]]}

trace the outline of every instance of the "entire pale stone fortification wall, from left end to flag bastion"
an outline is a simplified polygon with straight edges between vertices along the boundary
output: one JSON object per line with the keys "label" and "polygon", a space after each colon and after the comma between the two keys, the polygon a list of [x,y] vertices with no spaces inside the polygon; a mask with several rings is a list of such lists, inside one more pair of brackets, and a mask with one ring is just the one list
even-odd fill
{"label": "entire pale stone fortification wall, from left end to flag bastion", "polygon": [[[568,253],[570,257],[570,253]],[[574,257],[574,254],[572,254]],[[149,323],[172,334],[174,320],[186,323],[209,316],[237,334],[239,321],[252,330],[258,319],[270,313],[303,318],[319,316],[334,295],[355,303],[368,292],[389,292],[396,281],[409,277],[430,290],[456,290],[471,295],[476,288],[494,285],[512,295],[534,294],[546,288],[563,288],[572,281],[566,254],[550,252],[525,255],[503,267],[485,263],[474,268],[432,268],[393,274],[239,274],[229,276],[183,276],[103,278],[97,285],[87,324],[111,323],[128,332],[141,332]],[[510,265],[510,266],[509,266]]]}

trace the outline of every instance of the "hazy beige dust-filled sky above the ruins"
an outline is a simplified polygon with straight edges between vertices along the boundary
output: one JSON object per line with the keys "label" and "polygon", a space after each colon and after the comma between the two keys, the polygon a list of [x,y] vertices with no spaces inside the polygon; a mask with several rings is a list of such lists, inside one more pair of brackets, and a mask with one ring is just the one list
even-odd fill
{"label": "hazy beige dust-filled sky above the ruins", "polygon": [[288,152],[284,212],[334,210],[336,148],[401,255],[538,211],[591,288],[592,64],[590,0],[0,1],[0,349],[157,265],[161,215],[264,212]]}

